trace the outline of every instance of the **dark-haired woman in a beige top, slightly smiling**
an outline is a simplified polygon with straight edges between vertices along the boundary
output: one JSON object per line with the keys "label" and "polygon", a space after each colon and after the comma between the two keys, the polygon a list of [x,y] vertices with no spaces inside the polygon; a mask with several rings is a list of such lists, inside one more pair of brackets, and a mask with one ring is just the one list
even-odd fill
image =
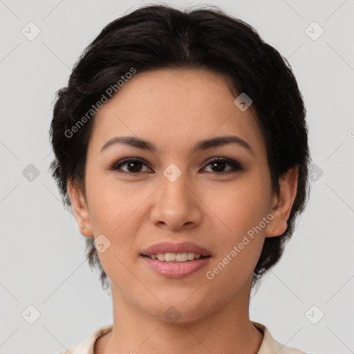
{"label": "dark-haired woman in a beige top, slightly smiling", "polygon": [[113,320],[62,353],[304,353],[249,317],[308,196],[304,102],[218,8],[107,25],[57,93],[52,162]]}

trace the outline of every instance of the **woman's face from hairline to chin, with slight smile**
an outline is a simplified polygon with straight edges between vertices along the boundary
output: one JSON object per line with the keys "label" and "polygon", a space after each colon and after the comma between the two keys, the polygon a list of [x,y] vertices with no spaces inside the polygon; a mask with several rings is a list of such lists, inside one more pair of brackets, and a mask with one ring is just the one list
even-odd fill
{"label": "woman's face from hairline to chin, with slight smile", "polygon": [[[175,312],[192,321],[230,301],[248,304],[265,236],[276,236],[265,141],[253,107],[241,111],[235,98],[208,71],[138,72],[95,118],[83,234],[101,235],[97,253],[114,295],[161,319]],[[118,137],[151,149],[111,140]],[[199,146],[219,137],[235,140]],[[194,243],[209,257],[142,256],[161,242]],[[176,250],[167,253],[193,252]]]}

